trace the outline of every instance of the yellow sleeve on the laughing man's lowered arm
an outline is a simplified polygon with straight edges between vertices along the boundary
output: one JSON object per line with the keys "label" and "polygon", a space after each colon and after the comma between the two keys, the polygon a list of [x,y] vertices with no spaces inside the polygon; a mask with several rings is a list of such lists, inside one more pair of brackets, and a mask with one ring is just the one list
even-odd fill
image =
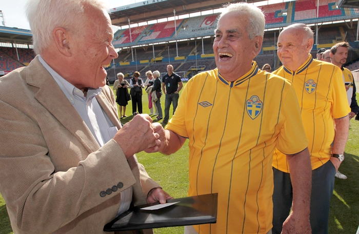
{"label": "yellow sleeve on the laughing man's lowered arm", "polygon": [[284,154],[295,154],[308,147],[298,100],[291,85],[284,97],[281,114],[284,124],[278,136],[277,149]]}

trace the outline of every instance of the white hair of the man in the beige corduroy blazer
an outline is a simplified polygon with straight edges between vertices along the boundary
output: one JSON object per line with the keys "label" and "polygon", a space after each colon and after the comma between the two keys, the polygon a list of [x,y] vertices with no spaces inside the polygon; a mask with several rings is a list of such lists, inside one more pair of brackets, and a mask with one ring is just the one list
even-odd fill
{"label": "white hair of the man in the beige corduroy blazer", "polygon": [[50,46],[55,27],[62,27],[74,35],[81,32],[86,5],[109,12],[102,0],[29,0],[25,6],[26,16],[35,53],[41,54]]}

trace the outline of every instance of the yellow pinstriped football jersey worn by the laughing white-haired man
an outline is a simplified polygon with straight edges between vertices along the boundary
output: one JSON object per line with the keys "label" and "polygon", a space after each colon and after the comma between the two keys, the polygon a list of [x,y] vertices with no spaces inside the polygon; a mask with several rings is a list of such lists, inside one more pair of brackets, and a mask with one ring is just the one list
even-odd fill
{"label": "yellow pinstriped football jersey worn by the laughing white-haired man", "polygon": [[272,228],[275,147],[308,145],[291,82],[252,69],[229,82],[217,69],[190,79],[167,129],[189,138],[188,196],[218,193],[216,224],[200,233],[267,233]]}

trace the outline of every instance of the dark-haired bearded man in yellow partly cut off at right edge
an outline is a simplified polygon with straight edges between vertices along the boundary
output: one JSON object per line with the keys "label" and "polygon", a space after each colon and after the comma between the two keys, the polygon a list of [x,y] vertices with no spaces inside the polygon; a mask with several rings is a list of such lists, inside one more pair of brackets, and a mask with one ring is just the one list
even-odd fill
{"label": "dark-haired bearded man in yellow partly cut off at right edge", "polygon": [[[349,43],[347,42],[336,43],[330,49],[330,57],[331,63],[335,66],[338,66],[343,72],[343,80],[345,84],[345,89],[347,90],[347,98],[351,110],[349,113],[349,119],[351,120],[358,113],[359,106],[356,102],[356,87],[353,79],[353,74],[350,72],[349,69],[343,67],[343,64],[347,62],[348,48]],[[347,176],[339,171],[336,171],[335,177],[344,180],[347,179]]]}

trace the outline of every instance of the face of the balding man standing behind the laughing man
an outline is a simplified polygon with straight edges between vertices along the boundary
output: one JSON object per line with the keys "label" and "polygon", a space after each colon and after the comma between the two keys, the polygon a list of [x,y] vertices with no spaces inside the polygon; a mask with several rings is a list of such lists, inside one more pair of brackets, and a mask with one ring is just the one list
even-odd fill
{"label": "face of the balding man standing behind the laughing man", "polygon": [[296,71],[308,59],[313,39],[307,38],[304,29],[286,28],[278,36],[277,54],[282,64]]}

